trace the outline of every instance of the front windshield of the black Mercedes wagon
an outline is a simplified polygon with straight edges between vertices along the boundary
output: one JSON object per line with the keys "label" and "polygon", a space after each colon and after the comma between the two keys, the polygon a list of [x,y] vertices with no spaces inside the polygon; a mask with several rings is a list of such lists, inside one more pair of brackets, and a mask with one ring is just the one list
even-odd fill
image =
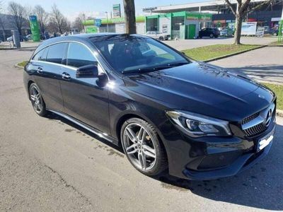
{"label": "front windshield of the black Mercedes wagon", "polygon": [[103,35],[90,38],[115,71],[156,71],[190,61],[161,42],[137,35]]}

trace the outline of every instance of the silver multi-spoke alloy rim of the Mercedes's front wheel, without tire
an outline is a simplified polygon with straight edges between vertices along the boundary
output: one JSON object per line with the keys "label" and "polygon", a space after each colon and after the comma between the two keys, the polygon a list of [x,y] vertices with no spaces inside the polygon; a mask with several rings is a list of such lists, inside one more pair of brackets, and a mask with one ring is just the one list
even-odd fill
{"label": "silver multi-spoke alloy rim of the Mercedes's front wheel, without tire", "polygon": [[151,170],[156,163],[156,148],[148,131],[140,124],[128,124],[123,132],[125,152],[139,170]]}

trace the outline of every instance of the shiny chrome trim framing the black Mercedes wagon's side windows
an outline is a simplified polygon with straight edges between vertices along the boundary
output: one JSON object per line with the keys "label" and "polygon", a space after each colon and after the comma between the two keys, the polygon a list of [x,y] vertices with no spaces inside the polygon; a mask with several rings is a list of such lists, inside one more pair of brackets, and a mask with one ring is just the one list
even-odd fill
{"label": "shiny chrome trim framing the black Mercedes wagon's side windows", "polygon": [[[40,51],[42,51],[43,49],[46,49],[47,47],[50,47],[50,46],[52,46],[52,45],[57,45],[57,44],[63,43],[63,42],[68,42],[68,43],[69,43],[69,42],[76,42],[76,43],[79,43],[80,45],[83,45],[84,47],[86,47],[86,48],[88,49],[88,51],[91,52],[91,54],[93,55],[94,59],[96,59],[96,61],[98,62],[98,65],[100,66],[100,68],[102,69],[102,71],[106,74],[108,80],[110,80],[107,71],[105,71],[105,69],[103,68],[102,64],[101,64],[100,61],[98,60],[98,57],[96,57],[95,52],[93,52],[90,47],[88,47],[87,45],[85,45],[85,44],[82,43],[82,42],[79,42],[79,41],[76,41],[76,40],[64,40],[64,41],[54,42],[54,43],[52,43],[52,44],[50,44],[50,45],[47,45],[46,47],[40,49]],[[68,47],[68,49],[69,49],[69,47]],[[38,52],[40,52],[40,51],[38,51]],[[38,53],[38,52],[37,52],[37,53]],[[36,54],[37,54],[37,53],[36,53]],[[34,55],[33,55],[33,56],[34,56]],[[62,67],[64,67],[64,68],[72,69],[72,70],[74,70],[74,71],[77,70],[74,66],[67,66],[67,65],[64,65],[64,64],[56,64],[56,63],[52,63],[52,62],[50,62],[50,61],[33,60],[33,56],[32,56],[32,59],[30,59],[30,61],[42,62],[42,63],[45,63],[45,64],[58,65],[58,66],[62,66]],[[48,54],[47,54],[47,56],[48,56]]]}

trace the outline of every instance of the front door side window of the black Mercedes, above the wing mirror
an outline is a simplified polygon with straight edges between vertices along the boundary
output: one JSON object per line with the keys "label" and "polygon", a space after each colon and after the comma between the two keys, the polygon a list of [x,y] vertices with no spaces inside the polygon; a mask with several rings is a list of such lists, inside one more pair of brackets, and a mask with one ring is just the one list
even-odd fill
{"label": "front door side window of the black Mercedes, above the wing mirror", "polygon": [[67,65],[74,67],[81,67],[90,64],[95,64],[96,59],[91,52],[83,45],[70,42],[67,54]]}

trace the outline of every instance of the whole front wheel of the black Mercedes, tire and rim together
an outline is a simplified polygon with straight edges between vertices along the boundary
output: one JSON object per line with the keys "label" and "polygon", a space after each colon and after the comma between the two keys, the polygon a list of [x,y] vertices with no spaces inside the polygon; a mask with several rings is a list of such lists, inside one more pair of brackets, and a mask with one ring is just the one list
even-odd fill
{"label": "whole front wheel of the black Mercedes, tire and rim together", "polygon": [[[141,131],[141,128],[144,130]],[[156,176],[167,169],[166,152],[154,126],[143,119],[128,119],[122,125],[120,135],[125,155],[139,172],[147,176]]]}

